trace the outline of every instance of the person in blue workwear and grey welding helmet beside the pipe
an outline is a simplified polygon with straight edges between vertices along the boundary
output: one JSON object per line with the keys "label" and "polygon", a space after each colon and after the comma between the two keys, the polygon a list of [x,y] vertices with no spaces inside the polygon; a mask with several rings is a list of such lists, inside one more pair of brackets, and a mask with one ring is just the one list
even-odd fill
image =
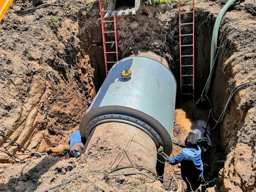
{"label": "person in blue workwear and grey welding helmet beside the pipe", "polygon": [[[189,192],[199,192],[203,181],[203,163],[201,149],[198,146],[202,140],[201,135],[202,133],[198,129],[189,132],[185,141],[186,147],[182,153],[167,159],[171,165],[180,163],[181,177],[187,183],[187,191]],[[180,142],[176,143],[179,144]]]}

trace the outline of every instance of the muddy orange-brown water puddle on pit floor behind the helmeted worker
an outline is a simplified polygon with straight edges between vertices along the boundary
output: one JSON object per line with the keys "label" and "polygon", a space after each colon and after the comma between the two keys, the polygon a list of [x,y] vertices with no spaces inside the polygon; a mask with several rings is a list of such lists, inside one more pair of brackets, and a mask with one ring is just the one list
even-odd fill
{"label": "muddy orange-brown water puddle on pit floor behind the helmeted worker", "polygon": [[[191,130],[199,129],[202,132],[202,141],[204,144],[211,145],[211,132],[210,130],[205,132],[209,111],[195,108],[194,121],[192,116],[194,105],[195,103],[191,101],[176,104],[175,119],[176,123],[182,127],[181,137],[185,140]],[[208,124],[208,128],[209,127],[210,125]]]}

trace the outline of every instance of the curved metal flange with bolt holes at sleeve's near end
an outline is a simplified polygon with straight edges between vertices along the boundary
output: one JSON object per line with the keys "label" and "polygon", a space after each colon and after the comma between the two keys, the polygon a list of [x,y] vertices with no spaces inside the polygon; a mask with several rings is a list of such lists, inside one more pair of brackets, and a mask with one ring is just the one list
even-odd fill
{"label": "curved metal flange with bolt holes at sleeve's near end", "polygon": [[88,139],[91,131],[96,125],[106,123],[106,122],[121,122],[133,125],[140,130],[146,132],[156,143],[156,146],[164,145],[162,138],[160,135],[148,124],[144,123],[141,119],[136,119],[127,115],[118,115],[118,114],[107,114],[95,117],[92,119],[89,124],[86,126],[85,130],[85,138]]}

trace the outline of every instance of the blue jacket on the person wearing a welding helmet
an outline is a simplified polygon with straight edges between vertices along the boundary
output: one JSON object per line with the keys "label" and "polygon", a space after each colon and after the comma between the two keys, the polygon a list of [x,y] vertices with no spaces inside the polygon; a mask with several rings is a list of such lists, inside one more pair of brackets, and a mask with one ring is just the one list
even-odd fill
{"label": "blue jacket on the person wearing a welding helmet", "polygon": [[201,159],[201,149],[198,145],[187,144],[182,153],[169,157],[171,165],[181,163],[181,177],[189,182],[196,182],[203,176],[203,163]]}

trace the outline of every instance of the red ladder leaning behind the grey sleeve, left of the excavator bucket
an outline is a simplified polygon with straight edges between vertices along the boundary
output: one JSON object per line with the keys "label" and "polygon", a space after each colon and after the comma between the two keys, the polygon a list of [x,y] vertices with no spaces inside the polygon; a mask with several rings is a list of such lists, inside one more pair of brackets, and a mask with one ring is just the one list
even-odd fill
{"label": "red ladder leaning behind the grey sleeve, left of the excavator bucket", "polygon": [[[118,49],[117,49],[117,32],[116,32],[116,15],[113,17],[113,20],[104,20],[103,12],[106,12],[102,9],[102,2],[100,1],[100,19],[101,19],[101,29],[102,29],[102,39],[103,39],[103,49],[104,49],[104,59],[105,59],[105,69],[106,75],[108,75],[109,68],[108,64],[115,64],[118,61]],[[112,17],[110,17],[112,18]],[[104,24],[105,23],[114,23],[114,31],[105,31]],[[108,33],[115,33],[115,41],[106,41],[105,35]],[[107,51],[106,44],[116,44],[116,51]],[[107,54],[116,54],[116,61],[108,61]]]}

